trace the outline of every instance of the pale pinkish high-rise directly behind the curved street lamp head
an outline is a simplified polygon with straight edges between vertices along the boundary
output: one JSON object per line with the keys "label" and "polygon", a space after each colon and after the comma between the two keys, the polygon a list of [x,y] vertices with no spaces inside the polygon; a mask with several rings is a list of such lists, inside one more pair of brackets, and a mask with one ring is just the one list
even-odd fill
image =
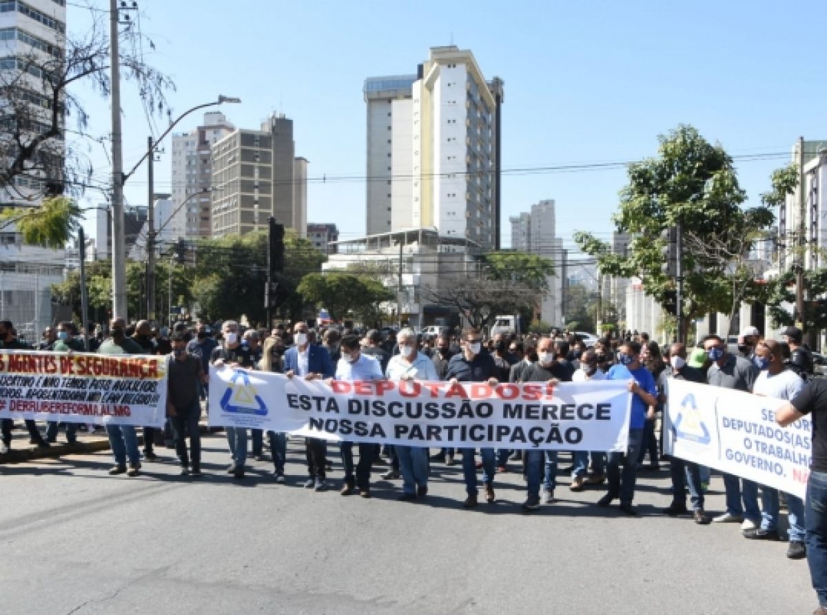
{"label": "pale pinkish high-rise directly behind the curved street lamp head", "polygon": [[[235,129],[223,113],[204,113],[203,126],[172,136],[172,204],[174,238],[210,237],[210,189],[213,167],[210,150]],[[189,199],[189,200],[188,200]],[[186,204],[184,205],[184,202]]]}

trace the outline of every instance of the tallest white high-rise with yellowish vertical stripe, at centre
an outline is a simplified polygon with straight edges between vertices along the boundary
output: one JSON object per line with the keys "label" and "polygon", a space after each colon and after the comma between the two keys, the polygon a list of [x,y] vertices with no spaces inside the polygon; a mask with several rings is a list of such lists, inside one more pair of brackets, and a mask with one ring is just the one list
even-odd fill
{"label": "tallest white high-rise with yellowish vertical stripe, at centre", "polygon": [[500,247],[503,82],[470,50],[432,47],[416,75],[366,79],[367,233],[436,228]]}

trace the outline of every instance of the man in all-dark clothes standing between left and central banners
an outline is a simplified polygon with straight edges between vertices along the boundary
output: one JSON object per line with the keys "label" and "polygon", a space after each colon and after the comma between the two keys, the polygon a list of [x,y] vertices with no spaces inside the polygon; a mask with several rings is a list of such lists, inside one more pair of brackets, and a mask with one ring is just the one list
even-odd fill
{"label": "man in all-dark clothes standing between left and central banners", "polygon": [[[206,385],[208,376],[203,371],[201,359],[187,352],[184,334],[173,334],[171,341],[172,353],[167,360],[166,415],[172,422],[181,475],[201,476],[201,435],[198,431],[201,404],[198,401],[198,385]],[[189,455],[186,440],[188,431]],[[192,469],[189,468],[190,459]]]}

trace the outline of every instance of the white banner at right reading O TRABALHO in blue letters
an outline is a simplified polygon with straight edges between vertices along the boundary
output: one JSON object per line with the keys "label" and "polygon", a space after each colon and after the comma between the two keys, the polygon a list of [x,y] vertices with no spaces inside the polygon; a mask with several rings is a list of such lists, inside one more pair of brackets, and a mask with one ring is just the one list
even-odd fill
{"label": "white banner at right reading O TRABALHO in blue letters", "polygon": [[804,497],[812,423],[775,422],[786,400],[668,381],[663,449],[667,454]]}

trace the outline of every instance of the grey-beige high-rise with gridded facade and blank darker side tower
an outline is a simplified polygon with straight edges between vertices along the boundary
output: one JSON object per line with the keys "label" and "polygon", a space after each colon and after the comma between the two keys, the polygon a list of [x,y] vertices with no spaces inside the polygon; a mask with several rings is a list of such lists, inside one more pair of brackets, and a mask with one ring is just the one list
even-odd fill
{"label": "grey-beige high-rise with gridded facade and blank darker side tower", "polygon": [[265,230],[270,216],[303,236],[308,161],[294,152],[293,120],[284,114],[213,144],[213,237]]}

